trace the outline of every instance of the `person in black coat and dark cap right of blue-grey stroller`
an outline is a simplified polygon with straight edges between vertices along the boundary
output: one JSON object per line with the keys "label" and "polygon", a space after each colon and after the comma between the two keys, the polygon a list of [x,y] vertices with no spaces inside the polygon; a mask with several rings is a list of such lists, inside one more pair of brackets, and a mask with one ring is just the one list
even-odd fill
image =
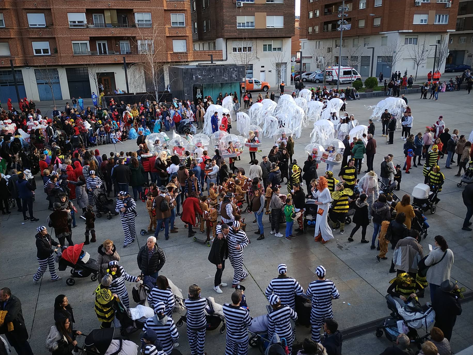
{"label": "person in black coat and dark cap right of blue-grey stroller", "polygon": [[452,293],[457,290],[458,285],[450,280],[445,280],[435,291],[434,303],[432,308],[435,311],[434,327],[442,329],[444,336],[450,341],[452,330],[455,326],[456,316],[462,314],[460,297]]}

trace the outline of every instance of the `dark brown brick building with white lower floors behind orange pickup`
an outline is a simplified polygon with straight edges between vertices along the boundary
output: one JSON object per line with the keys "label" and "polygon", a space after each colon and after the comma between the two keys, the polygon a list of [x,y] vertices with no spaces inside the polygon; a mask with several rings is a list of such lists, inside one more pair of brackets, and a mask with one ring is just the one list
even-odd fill
{"label": "dark brown brick building with white lower floors behind orange pickup", "polygon": [[290,78],[294,13],[295,0],[191,0],[193,49],[217,50],[219,63],[274,88]]}

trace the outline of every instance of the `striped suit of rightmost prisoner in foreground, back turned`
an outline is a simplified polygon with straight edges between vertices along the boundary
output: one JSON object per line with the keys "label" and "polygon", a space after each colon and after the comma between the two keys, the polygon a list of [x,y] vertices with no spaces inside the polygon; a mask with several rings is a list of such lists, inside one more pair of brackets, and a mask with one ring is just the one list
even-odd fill
{"label": "striped suit of rightmost prisoner in foreground, back turned", "polygon": [[331,280],[315,280],[307,287],[307,296],[312,300],[310,324],[312,340],[320,343],[320,328],[324,319],[333,319],[332,299],[340,298],[335,284]]}

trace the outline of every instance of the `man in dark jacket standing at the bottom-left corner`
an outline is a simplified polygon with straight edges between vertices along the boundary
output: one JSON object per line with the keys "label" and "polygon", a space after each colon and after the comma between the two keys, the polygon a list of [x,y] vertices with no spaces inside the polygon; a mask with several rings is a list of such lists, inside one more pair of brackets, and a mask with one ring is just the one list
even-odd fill
{"label": "man in dark jacket standing at the bottom-left corner", "polygon": [[[11,294],[8,287],[0,290],[0,311],[8,311],[5,315],[3,325],[0,326],[0,333],[5,334],[8,342],[15,348],[18,355],[33,355],[33,351],[28,343],[28,331],[26,330],[23,311],[20,300]],[[12,323],[13,330],[8,331],[9,323]]]}

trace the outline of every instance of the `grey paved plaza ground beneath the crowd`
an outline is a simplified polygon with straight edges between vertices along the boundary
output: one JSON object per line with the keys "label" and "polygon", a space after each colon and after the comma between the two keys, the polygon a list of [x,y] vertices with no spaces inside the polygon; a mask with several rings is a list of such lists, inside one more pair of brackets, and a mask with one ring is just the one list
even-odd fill
{"label": "grey paved plaza ground beneath the crowd", "polygon": [[[473,128],[473,96],[467,95],[466,91],[451,93],[440,93],[438,101],[420,100],[419,95],[408,96],[409,106],[412,108],[414,123],[412,133],[424,132],[425,126],[434,123],[438,115],[444,116],[446,127],[458,129],[460,134],[465,134],[468,138]],[[378,99],[366,99],[351,101],[347,103],[347,112],[354,114],[360,124],[367,124],[371,111],[367,106],[376,105]],[[38,105],[40,106],[40,105]],[[59,107],[59,105],[58,105]],[[403,143],[400,139],[400,131],[394,134],[394,145],[385,145],[385,138],[381,137],[381,124],[375,122],[377,140],[377,155],[375,158],[375,171],[379,174],[380,163],[383,156],[388,153],[394,154],[394,165],[403,166],[404,154]],[[235,124],[234,124],[235,126]],[[299,166],[303,166],[307,156],[304,147],[310,142],[309,134],[312,126],[303,130],[302,137],[296,140],[294,158],[298,159]],[[272,147],[272,139],[263,141],[263,152],[257,153],[257,159],[261,161],[262,155],[267,155]],[[100,153],[109,154],[113,150],[113,145],[99,147]],[[123,151],[136,151],[135,141],[127,141],[123,145],[117,144],[117,149]],[[212,156],[213,152],[209,155]],[[456,158],[456,157],[455,157]],[[456,160],[456,159],[455,159]],[[242,160],[237,162],[237,167],[243,167],[246,171],[249,168],[249,154],[244,152]],[[461,230],[466,208],[462,201],[462,190],[456,184],[459,181],[454,175],[457,172],[456,163],[453,169],[445,169],[445,159],[440,160],[440,167],[446,176],[443,190],[439,195],[441,202],[438,204],[437,212],[434,215],[427,213],[430,225],[427,239],[422,241],[424,253],[429,251],[428,244],[434,244],[433,237],[437,234],[443,235],[447,240],[449,248],[455,254],[455,262],[452,267],[452,279],[458,284],[465,286],[467,291],[473,290],[473,233]],[[366,169],[366,165],[362,170]],[[325,164],[320,164],[317,170],[319,176],[323,174]],[[335,169],[334,175],[338,175]],[[363,175],[363,173],[362,173]],[[412,188],[423,182],[422,170],[412,168],[410,175],[403,174],[401,191],[399,196],[405,193],[412,193]],[[50,211],[47,209],[47,201],[37,178],[36,202],[34,204],[35,216],[40,218],[40,222],[22,225],[22,214],[16,209],[7,216],[0,216],[0,287],[9,287],[14,295],[22,302],[23,314],[26,326],[30,331],[30,344],[35,354],[46,354],[44,341],[53,325],[53,301],[58,294],[67,295],[70,304],[74,309],[76,324],[74,329],[88,333],[91,329],[98,328],[94,312],[93,291],[96,282],[90,278],[77,279],[73,286],[66,285],[66,278],[70,274],[68,268],[64,272],[59,272],[62,276],[60,282],[51,282],[49,273],[44,274],[44,278],[38,284],[33,284],[32,277],[38,267],[36,261],[35,239],[36,227],[46,224],[46,218]],[[304,188],[305,190],[305,188]],[[286,191],[286,186],[281,188],[281,192]],[[137,211],[137,232],[146,228],[149,222],[145,204],[138,201]],[[250,307],[250,315],[255,317],[265,312],[265,305],[268,303],[264,290],[269,281],[277,276],[277,266],[285,263],[288,266],[288,275],[294,276],[299,283],[307,289],[307,285],[316,279],[315,268],[323,265],[327,270],[327,278],[334,281],[341,297],[333,301],[334,319],[339,323],[339,329],[346,329],[363,324],[374,319],[386,317],[390,311],[386,307],[385,294],[389,286],[389,281],[395,274],[389,274],[389,259],[392,257],[392,250],[389,249],[386,261],[378,263],[375,255],[376,250],[369,248],[370,244],[361,244],[360,231],[355,235],[355,241],[349,243],[347,238],[353,224],[345,227],[344,235],[335,232],[335,239],[322,245],[314,241],[313,229],[309,229],[307,234],[298,236],[292,241],[283,238],[275,238],[270,231],[270,224],[266,217],[263,218],[266,238],[256,241],[254,231],[257,230],[256,223],[252,223],[254,217],[244,214],[246,217],[246,232],[251,244],[245,248],[244,266],[250,276],[242,283],[246,287],[246,298]],[[81,218],[76,217],[78,227],[73,229],[72,238],[75,243],[84,241],[85,225]],[[170,234],[169,240],[164,240],[164,233],[161,232],[158,238],[158,245],[166,253],[166,264],[161,270],[161,275],[170,278],[183,293],[187,293],[190,284],[198,284],[202,288],[203,297],[211,296],[218,303],[230,302],[231,287],[222,288],[223,294],[217,294],[213,290],[213,276],[215,266],[207,260],[210,248],[206,245],[193,242],[187,238],[187,230],[183,223],[176,219],[179,233]],[[283,230],[282,230],[283,231]],[[368,226],[367,238],[371,238],[373,232],[372,225]],[[96,220],[97,243],[85,246],[91,257],[96,258],[97,247],[105,239],[114,240],[117,251],[121,256],[120,265],[131,275],[138,275],[140,270],[136,263],[136,255],[139,248],[146,244],[147,236],[138,235],[138,240],[129,248],[123,249],[123,230],[119,217],[114,217],[111,221],[105,218]],[[222,281],[231,284],[233,270],[230,263],[227,263],[223,273]],[[133,284],[126,283],[131,298],[131,287]],[[429,301],[429,292],[426,297],[420,299],[424,304]],[[135,302],[131,298],[131,306]],[[175,321],[179,314],[174,313]],[[453,337],[451,339],[452,350],[456,353],[467,346],[473,344],[473,304],[466,302],[463,304],[463,314],[458,317]],[[139,333],[132,339],[139,341]],[[187,337],[185,334],[185,324],[179,328],[179,350],[183,354],[190,354]],[[310,337],[310,329],[305,327],[296,328],[296,339],[302,342],[305,337]],[[83,338],[79,338],[79,345],[83,344]],[[205,351],[209,355],[224,353],[225,334],[219,334],[217,330],[207,332]],[[355,337],[343,342],[343,354],[379,354],[390,343],[385,337],[377,338],[374,333]],[[250,349],[250,354],[257,354],[257,349]],[[13,352],[13,354],[16,354]]]}

